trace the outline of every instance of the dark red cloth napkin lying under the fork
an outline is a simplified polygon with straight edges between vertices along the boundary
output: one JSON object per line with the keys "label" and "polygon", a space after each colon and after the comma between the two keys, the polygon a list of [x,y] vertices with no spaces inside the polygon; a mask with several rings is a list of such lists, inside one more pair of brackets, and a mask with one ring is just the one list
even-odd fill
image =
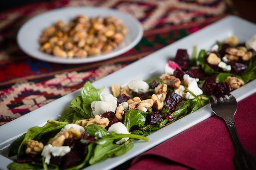
{"label": "dark red cloth napkin lying under the fork", "polygon": [[[256,94],[238,103],[234,119],[241,143],[256,158]],[[137,156],[130,169],[233,170],[234,156],[226,124],[212,116]]]}

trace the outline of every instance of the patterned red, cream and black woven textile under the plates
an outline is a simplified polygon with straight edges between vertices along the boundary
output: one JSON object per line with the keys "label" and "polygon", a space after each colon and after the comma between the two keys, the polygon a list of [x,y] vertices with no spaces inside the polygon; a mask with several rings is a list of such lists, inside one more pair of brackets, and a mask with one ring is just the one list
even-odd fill
{"label": "patterned red, cream and black woven textile under the plates", "polygon": [[[100,6],[128,12],[142,23],[143,39],[118,57],[81,65],[43,62],[18,48],[16,34],[23,23],[44,11],[67,6]],[[232,13],[232,4],[227,0],[54,0],[4,11],[0,13],[0,125]]]}

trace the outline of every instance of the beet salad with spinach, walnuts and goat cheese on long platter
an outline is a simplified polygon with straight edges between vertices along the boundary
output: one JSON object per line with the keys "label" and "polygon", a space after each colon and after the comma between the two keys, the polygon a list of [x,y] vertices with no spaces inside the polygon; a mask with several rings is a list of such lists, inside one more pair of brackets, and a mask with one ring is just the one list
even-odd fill
{"label": "beet salad with spinach, walnuts and goat cheese on long platter", "polygon": [[86,82],[81,95],[70,103],[70,112],[58,121],[31,127],[11,145],[15,159],[10,170],[79,170],[133,147],[134,139],[202,108],[211,95],[222,95],[256,79],[256,36],[238,44],[229,37],[209,50],[189,57],[178,49],[160,77],[135,79],[126,86],[112,85],[112,94],[101,94]]}

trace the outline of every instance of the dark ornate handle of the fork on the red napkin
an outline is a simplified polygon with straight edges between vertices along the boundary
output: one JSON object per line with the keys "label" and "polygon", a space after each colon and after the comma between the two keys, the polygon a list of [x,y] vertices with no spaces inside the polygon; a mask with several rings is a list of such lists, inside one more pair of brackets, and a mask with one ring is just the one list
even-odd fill
{"label": "dark ornate handle of the fork on the red napkin", "polygon": [[233,118],[225,119],[227,127],[230,130],[233,142],[236,148],[236,167],[238,170],[256,170],[256,161],[253,156],[248,153],[241,144]]}

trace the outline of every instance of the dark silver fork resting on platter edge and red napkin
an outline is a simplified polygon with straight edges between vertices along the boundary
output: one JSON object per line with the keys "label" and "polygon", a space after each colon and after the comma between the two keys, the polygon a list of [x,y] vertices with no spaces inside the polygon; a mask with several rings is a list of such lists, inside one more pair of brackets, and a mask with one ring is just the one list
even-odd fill
{"label": "dark silver fork resting on platter edge and red napkin", "polygon": [[241,144],[236,132],[234,115],[237,110],[236,98],[231,94],[222,96],[212,96],[210,98],[212,111],[225,120],[230,130],[233,142],[235,144],[236,156],[235,163],[238,170],[256,170],[256,161],[253,156],[248,153]]}

